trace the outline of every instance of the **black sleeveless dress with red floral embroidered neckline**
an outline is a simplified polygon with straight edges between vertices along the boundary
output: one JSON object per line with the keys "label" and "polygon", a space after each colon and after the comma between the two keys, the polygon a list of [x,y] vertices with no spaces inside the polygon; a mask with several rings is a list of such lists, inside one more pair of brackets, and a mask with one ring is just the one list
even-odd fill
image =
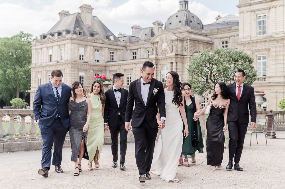
{"label": "black sleeveless dress with red floral embroidered neckline", "polygon": [[211,103],[211,111],[206,122],[207,165],[221,165],[223,161],[225,143],[223,127],[225,126],[224,111],[226,105],[218,106],[213,102]]}

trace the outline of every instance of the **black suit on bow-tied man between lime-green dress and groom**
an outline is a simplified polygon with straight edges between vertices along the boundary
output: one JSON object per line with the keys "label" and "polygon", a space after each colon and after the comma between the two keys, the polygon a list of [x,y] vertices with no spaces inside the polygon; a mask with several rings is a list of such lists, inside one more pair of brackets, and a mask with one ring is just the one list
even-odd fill
{"label": "black suit on bow-tied man between lime-green dress and groom", "polygon": [[[111,149],[113,154],[113,161],[118,160],[118,135],[120,131],[120,163],[125,163],[125,156],[127,151],[127,136],[128,132],[125,129],[125,113],[128,99],[128,91],[121,88],[121,99],[119,107],[116,101],[113,87],[105,92],[106,101],[104,109],[104,122],[109,126],[111,134]],[[120,113],[120,115],[119,115]]]}

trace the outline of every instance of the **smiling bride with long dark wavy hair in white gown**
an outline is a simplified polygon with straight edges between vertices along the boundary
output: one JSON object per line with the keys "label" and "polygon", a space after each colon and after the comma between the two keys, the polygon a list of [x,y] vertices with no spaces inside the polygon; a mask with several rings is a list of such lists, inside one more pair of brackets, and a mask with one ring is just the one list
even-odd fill
{"label": "smiling bride with long dark wavy hair in white gown", "polygon": [[183,144],[183,122],[185,124],[185,137],[188,136],[188,125],[185,109],[184,107],[182,108],[184,97],[182,95],[182,83],[179,81],[179,75],[174,71],[168,72],[165,77],[165,84],[167,87],[164,89],[167,121],[165,122],[165,128],[161,129],[163,127],[158,112],[156,119],[159,124],[158,127],[161,130],[158,143],[154,148],[150,172],[160,175],[161,180],[165,180],[166,182],[172,180],[174,183],[177,183],[179,182],[177,169]]}

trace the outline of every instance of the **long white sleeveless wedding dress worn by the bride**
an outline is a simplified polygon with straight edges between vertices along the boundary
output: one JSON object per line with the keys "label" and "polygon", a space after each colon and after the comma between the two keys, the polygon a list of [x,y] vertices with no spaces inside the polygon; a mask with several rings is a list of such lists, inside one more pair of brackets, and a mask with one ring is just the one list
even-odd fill
{"label": "long white sleeveless wedding dress worn by the bride", "polygon": [[178,107],[172,104],[174,92],[164,89],[164,93],[166,122],[154,148],[150,172],[169,182],[174,180],[178,169],[183,144],[183,122]]}

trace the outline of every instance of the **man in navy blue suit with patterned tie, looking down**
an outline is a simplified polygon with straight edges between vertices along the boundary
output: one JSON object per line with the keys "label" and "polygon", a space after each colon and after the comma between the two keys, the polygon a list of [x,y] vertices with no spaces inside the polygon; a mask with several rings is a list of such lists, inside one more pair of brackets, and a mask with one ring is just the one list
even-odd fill
{"label": "man in navy blue suit with patterned tie, looking down", "polygon": [[34,117],[42,135],[42,169],[38,174],[48,177],[52,146],[54,153],[52,165],[55,165],[57,173],[63,173],[61,169],[62,147],[66,133],[70,127],[68,100],[71,95],[71,87],[62,83],[62,71],[53,70],[51,82],[38,86],[34,96]]}

